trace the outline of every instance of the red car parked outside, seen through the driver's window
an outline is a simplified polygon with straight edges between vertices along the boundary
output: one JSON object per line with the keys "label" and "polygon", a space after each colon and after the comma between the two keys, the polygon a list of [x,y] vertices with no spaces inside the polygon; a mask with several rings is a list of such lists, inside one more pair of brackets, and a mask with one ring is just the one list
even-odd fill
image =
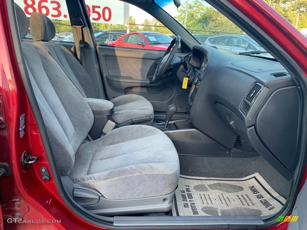
{"label": "red car parked outside, seen through the driver's window", "polygon": [[166,34],[142,31],[127,33],[115,41],[110,41],[109,45],[127,48],[167,50],[171,41],[172,38]]}

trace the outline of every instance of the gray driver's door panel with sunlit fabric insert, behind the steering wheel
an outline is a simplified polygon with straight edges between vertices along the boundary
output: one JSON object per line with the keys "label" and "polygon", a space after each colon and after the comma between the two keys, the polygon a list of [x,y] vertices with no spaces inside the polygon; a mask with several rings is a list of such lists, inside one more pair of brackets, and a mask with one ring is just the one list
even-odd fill
{"label": "gray driver's door panel with sunlit fabric insert, behind the steering wheel", "polygon": [[149,100],[155,112],[165,112],[174,103],[178,112],[186,111],[188,92],[176,77],[150,84],[164,51],[97,46],[106,93],[110,99],[123,94],[138,94]]}

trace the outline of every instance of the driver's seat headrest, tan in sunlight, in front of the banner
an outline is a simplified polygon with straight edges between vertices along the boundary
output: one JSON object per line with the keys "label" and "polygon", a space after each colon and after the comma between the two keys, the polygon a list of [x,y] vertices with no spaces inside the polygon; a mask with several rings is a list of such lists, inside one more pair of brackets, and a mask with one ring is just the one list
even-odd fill
{"label": "driver's seat headrest, tan in sunlight, in front of the banner", "polygon": [[56,35],[56,28],[48,17],[33,12],[30,17],[30,34],[35,41],[49,41]]}

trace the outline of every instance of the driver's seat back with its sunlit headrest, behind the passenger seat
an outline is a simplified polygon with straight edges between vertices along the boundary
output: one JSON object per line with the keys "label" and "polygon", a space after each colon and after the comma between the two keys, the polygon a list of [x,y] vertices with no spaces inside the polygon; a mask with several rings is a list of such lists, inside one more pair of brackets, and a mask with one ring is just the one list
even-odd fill
{"label": "driver's seat back with its sunlit headrest, behind the passenger seat", "polygon": [[65,74],[85,98],[97,98],[98,88],[72,53],[59,44],[51,41],[56,35],[52,21],[43,14],[33,12],[30,17],[30,34],[36,45],[52,56]]}

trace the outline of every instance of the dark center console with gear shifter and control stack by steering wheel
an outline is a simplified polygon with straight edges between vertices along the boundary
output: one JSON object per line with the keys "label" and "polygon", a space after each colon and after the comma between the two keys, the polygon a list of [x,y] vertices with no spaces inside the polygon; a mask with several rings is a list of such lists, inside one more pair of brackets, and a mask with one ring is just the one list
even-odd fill
{"label": "dark center console with gear shifter and control stack by steering wheel", "polygon": [[[195,66],[190,68],[189,74],[185,76],[191,77],[192,86],[189,93],[187,112],[191,112],[191,107],[194,102],[197,90],[200,87],[201,81],[204,78],[204,73],[207,68],[208,58],[197,50],[193,52],[194,58],[188,56],[186,58],[188,65]],[[197,61],[198,60],[198,61]],[[179,70],[181,71],[181,70]],[[191,74],[192,72],[192,74]],[[168,120],[166,113],[166,120]],[[222,144],[213,140],[203,132],[195,128],[189,119],[171,121],[165,127],[165,123],[153,123],[151,126],[163,131],[173,142],[179,155],[194,155],[194,156],[231,156],[231,149],[226,148]]]}

